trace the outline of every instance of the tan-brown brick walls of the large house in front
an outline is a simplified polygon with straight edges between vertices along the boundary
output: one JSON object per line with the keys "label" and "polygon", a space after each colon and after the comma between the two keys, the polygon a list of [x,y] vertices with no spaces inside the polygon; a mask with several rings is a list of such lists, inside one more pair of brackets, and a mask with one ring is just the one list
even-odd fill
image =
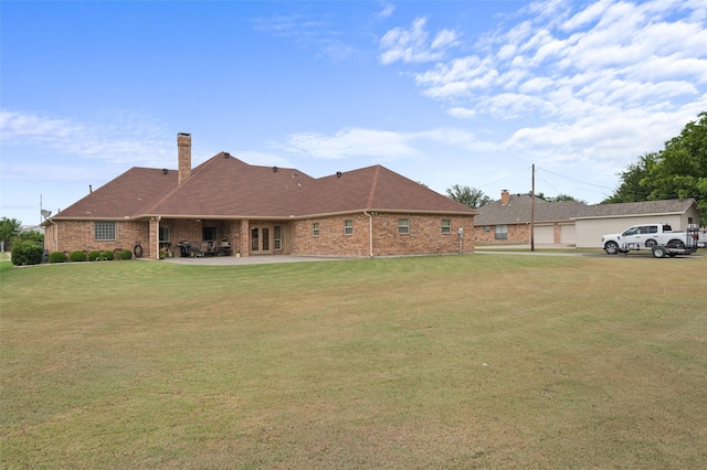
{"label": "tan-brown brick walls of the large house in front", "polygon": [[[400,234],[398,221],[408,218],[410,233]],[[442,233],[442,220],[451,223],[450,233]],[[345,234],[345,221],[352,222],[351,234]],[[319,224],[319,235],[313,234],[313,223]],[[373,256],[452,254],[460,250],[458,227],[466,234],[463,250],[474,250],[474,233],[472,216],[387,214],[372,215]],[[93,221],[59,221],[59,250],[133,250],[136,243],[143,246],[143,257],[157,258],[158,223],[157,221],[116,221],[115,241],[96,241]],[[268,223],[270,225],[270,223]],[[359,214],[337,215],[329,217],[278,222],[272,225],[283,227],[283,249],[276,254],[319,255],[319,256],[369,256],[369,217]],[[162,218],[160,227],[169,227],[170,246],[175,256],[180,255],[177,246],[183,241],[201,244],[202,228],[215,227],[218,243],[226,238],[232,248],[231,254],[250,255],[249,221],[197,221],[186,218]],[[493,235],[493,233],[492,233]],[[46,247],[54,247],[54,226],[46,227]]]}

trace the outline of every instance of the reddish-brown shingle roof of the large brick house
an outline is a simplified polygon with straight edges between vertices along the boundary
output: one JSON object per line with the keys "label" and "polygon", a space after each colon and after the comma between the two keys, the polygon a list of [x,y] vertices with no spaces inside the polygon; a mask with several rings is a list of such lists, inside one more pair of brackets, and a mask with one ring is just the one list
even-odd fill
{"label": "reddish-brown shingle roof of the large brick house", "polygon": [[473,215],[476,211],[381,165],[314,179],[219,153],[178,184],[178,171],[134,168],[55,218],[303,217],[355,211]]}

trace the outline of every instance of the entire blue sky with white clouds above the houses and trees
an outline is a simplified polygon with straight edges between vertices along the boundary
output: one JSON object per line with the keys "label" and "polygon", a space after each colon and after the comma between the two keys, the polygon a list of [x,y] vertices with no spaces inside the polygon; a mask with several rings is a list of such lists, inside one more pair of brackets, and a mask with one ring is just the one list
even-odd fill
{"label": "entire blue sky with white clouds above the houses and trees", "polygon": [[707,110],[707,1],[7,1],[0,215],[229,151],[598,203]]}

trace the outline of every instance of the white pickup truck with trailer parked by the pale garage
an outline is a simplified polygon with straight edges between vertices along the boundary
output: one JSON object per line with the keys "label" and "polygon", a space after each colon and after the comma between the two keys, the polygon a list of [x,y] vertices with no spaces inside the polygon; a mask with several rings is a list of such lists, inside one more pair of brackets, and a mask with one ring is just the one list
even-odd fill
{"label": "white pickup truck with trailer parked by the pale garage", "polygon": [[667,248],[667,255],[693,253],[697,247],[707,245],[707,233],[699,232],[690,226],[687,232],[673,232],[669,225],[643,224],[626,228],[620,234],[610,234],[601,237],[601,246],[609,255],[629,253],[636,249],[650,249],[654,247]]}

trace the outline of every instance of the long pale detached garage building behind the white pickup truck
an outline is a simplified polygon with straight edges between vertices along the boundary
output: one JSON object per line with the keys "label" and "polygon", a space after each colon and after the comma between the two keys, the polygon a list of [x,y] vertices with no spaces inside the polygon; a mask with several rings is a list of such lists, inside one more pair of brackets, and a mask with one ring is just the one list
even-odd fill
{"label": "long pale detached garage building behind the white pickup truck", "polygon": [[588,206],[574,217],[576,245],[601,248],[602,235],[621,233],[639,224],[668,224],[674,231],[684,231],[689,224],[699,224],[697,202],[689,197]]}

